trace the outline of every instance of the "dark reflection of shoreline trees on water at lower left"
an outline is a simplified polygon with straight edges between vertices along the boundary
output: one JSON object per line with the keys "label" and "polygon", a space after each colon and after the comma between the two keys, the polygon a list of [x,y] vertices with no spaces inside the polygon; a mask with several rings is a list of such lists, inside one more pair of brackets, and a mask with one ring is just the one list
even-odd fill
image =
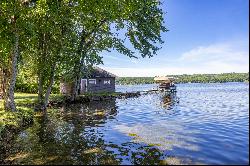
{"label": "dark reflection of shoreline trees on water at lower left", "polygon": [[[11,143],[5,164],[157,164],[156,147],[103,139],[100,127],[117,115],[115,100],[64,106],[36,118],[34,125]],[[131,147],[133,147],[131,149]],[[126,161],[129,156],[129,161]]]}

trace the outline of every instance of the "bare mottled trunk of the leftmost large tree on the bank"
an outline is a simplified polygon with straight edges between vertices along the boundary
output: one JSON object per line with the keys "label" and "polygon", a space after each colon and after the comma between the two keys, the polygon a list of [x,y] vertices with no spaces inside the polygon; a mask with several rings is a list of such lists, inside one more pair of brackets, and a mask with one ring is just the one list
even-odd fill
{"label": "bare mottled trunk of the leftmost large tree on the bank", "polygon": [[16,84],[16,76],[17,76],[17,57],[19,55],[19,36],[15,33],[15,44],[14,49],[11,55],[11,69],[10,69],[10,78],[7,83],[6,95],[4,107],[5,110],[16,111],[16,105],[14,100],[14,90]]}

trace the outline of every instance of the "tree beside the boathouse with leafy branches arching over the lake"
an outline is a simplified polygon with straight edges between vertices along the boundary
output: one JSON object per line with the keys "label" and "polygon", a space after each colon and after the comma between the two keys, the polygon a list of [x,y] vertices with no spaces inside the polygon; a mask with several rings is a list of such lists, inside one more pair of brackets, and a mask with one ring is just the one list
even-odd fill
{"label": "tree beside the boathouse with leafy branches arching over the lake", "polygon": [[[73,70],[75,85],[72,100],[78,95],[80,71],[88,56],[94,54],[98,57],[98,53],[110,49],[129,57],[135,57],[135,50],[142,57],[156,54],[159,50],[157,43],[163,42],[161,32],[167,31],[162,25],[163,12],[159,5],[158,0],[79,1],[76,11],[80,16],[77,21],[80,40]],[[134,49],[126,46],[125,42],[130,42]]]}

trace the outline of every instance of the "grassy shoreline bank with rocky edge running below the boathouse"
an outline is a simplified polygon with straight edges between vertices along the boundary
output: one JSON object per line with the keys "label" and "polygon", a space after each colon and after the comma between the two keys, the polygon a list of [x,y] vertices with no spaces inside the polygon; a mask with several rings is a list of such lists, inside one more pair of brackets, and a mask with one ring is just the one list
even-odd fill
{"label": "grassy shoreline bank with rocky edge running below the boathouse", "polygon": [[[79,95],[74,101],[70,100],[70,96],[61,94],[50,95],[48,107],[58,108],[65,104],[88,103],[91,101],[107,101],[115,98],[138,97],[139,93],[121,93],[121,92],[100,92],[100,93],[85,93]],[[16,93],[15,103],[18,109],[17,112],[5,111],[3,101],[0,100],[0,136],[2,131],[8,127],[18,129],[22,126],[33,122],[33,116],[43,114],[44,112],[35,112],[37,110],[37,95],[29,93]]]}

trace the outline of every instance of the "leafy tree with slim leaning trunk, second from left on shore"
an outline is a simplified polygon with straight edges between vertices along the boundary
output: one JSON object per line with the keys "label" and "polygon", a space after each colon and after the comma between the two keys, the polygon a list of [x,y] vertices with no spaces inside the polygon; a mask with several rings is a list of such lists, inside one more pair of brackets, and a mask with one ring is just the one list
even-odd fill
{"label": "leafy tree with slim leaning trunk, second from left on shore", "polygon": [[29,59],[38,77],[38,109],[45,110],[59,66],[74,34],[68,1],[37,1],[33,11],[34,37]]}

